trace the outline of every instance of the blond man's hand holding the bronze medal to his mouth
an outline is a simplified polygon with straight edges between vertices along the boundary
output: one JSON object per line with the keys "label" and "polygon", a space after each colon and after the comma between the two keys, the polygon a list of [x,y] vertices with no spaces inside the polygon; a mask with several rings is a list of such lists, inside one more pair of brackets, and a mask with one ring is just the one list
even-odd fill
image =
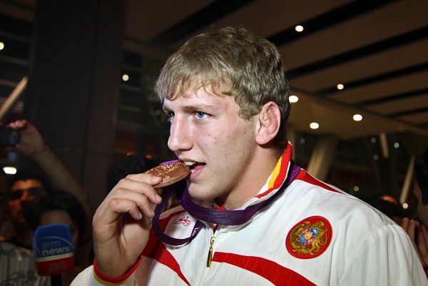
{"label": "blond man's hand holding the bronze medal to his mouth", "polygon": [[153,185],[162,178],[128,175],[111,190],[93,216],[93,242],[98,269],[109,277],[124,275],[148,241],[151,219],[161,203]]}

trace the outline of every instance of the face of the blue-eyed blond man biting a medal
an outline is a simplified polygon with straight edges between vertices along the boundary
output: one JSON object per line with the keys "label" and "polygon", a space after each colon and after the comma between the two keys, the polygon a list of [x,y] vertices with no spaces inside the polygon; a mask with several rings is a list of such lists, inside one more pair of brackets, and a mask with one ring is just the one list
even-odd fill
{"label": "face of the blue-eyed blond man biting a medal", "polygon": [[170,116],[168,147],[179,160],[195,162],[188,178],[190,196],[200,203],[215,199],[225,208],[239,208],[257,177],[258,116],[240,118],[232,97],[203,88],[188,97],[165,99],[163,109]]}

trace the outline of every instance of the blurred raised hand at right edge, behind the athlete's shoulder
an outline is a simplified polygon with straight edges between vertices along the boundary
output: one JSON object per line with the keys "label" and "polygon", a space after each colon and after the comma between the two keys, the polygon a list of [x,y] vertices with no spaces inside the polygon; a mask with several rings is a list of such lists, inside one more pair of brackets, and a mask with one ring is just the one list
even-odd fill
{"label": "blurred raised hand at right edge, behind the athlete's shoulder", "polygon": [[412,240],[414,250],[417,252],[422,265],[428,265],[428,230],[417,220],[403,218],[402,228]]}

